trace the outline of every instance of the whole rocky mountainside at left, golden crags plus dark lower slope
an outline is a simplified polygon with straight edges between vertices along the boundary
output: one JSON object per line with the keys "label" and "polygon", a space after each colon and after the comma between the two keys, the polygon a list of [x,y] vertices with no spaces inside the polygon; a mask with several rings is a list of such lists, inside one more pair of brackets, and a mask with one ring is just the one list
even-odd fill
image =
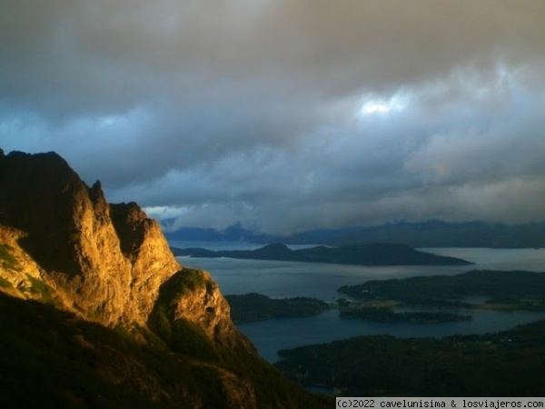
{"label": "whole rocky mountainside at left, golden crags plus dark lower slope", "polygon": [[[60,407],[323,407],[259,358],[211,276],[178,264],[154,220],[109,205],[54,153],[0,149],[0,293],[12,351],[0,364],[23,374],[0,384],[49,371],[54,382],[28,386]],[[42,404],[19,389],[0,400]]]}

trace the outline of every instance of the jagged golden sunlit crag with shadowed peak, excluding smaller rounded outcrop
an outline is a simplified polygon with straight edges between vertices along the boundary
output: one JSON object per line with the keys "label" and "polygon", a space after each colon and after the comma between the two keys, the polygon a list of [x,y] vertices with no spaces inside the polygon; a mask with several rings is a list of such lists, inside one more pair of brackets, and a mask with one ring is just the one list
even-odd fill
{"label": "jagged golden sunlit crag with shadowed peak, excluding smaller rounded outcrop", "polygon": [[0,172],[3,240],[22,264],[3,274],[14,289],[32,289],[31,274],[87,319],[145,324],[181,268],[159,225],[135,204],[108,205],[99,182],[88,187],[54,153],[2,155]]}

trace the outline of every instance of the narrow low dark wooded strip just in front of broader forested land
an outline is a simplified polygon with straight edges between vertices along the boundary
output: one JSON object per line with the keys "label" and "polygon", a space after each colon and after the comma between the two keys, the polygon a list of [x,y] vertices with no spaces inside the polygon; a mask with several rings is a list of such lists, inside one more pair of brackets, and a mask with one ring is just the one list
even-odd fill
{"label": "narrow low dark wooded strip just in front of broader forested land", "polygon": [[361,318],[364,320],[378,321],[381,323],[418,323],[437,324],[450,321],[471,320],[471,315],[461,315],[445,311],[417,311],[402,312],[393,311],[392,306],[375,303],[351,303],[338,300],[340,315],[342,318]]}

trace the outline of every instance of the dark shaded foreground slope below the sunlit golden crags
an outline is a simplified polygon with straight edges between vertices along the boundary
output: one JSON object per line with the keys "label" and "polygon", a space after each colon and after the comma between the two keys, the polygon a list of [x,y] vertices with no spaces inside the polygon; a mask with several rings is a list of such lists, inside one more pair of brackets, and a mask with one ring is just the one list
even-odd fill
{"label": "dark shaded foreground slope below the sunlit golden crags", "polygon": [[278,399],[290,407],[332,407],[331,399],[305,393],[248,354],[195,359],[143,328],[108,329],[1,292],[0,326],[4,408],[230,407],[224,370],[256,380],[258,407],[276,407]]}

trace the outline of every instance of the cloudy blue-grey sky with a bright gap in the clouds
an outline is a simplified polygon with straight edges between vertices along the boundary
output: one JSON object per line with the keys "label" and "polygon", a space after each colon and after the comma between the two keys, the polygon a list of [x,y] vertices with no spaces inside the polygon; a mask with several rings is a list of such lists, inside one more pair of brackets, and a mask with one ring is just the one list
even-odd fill
{"label": "cloudy blue-grey sky with a bright gap in the clouds", "polygon": [[542,0],[2,0],[0,148],[168,230],[545,220]]}

